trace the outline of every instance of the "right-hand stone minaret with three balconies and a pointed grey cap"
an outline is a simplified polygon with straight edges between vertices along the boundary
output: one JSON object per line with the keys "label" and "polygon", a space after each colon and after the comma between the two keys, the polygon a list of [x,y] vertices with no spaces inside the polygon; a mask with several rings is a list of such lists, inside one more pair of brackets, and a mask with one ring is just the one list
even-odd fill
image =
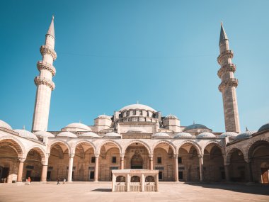
{"label": "right-hand stone minaret with three balconies and a pointed grey cap", "polygon": [[219,84],[219,91],[222,92],[225,129],[229,132],[239,133],[240,123],[236,99],[238,80],[234,78],[236,65],[231,62],[234,53],[229,50],[229,40],[222,24],[219,37],[219,52],[220,54],[219,57],[217,57],[217,62],[219,62],[221,68],[217,72],[217,75],[222,79],[222,83]]}

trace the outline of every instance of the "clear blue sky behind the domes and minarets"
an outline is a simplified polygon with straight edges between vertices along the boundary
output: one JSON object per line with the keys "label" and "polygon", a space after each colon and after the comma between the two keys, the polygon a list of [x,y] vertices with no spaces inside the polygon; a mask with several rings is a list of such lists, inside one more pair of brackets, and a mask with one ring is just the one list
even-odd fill
{"label": "clear blue sky behind the domes and minarets", "polygon": [[100,114],[143,103],[181,125],[224,131],[217,77],[223,21],[239,79],[241,130],[269,121],[269,1],[0,2],[0,119],[31,129],[52,14],[57,74],[48,130],[87,125]]}

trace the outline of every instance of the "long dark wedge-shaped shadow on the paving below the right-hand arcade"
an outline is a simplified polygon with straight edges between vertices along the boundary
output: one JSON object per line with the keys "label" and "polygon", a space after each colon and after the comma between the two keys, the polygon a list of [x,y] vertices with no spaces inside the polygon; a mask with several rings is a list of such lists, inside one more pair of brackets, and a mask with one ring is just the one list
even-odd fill
{"label": "long dark wedge-shaped shadow on the paving below the right-hand arcade", "polygon": [[184,183],[191,186],[202,186],[209,189],[223,189],[241,193],[252,193],[269,196],[269,185],[262,184],[233,184],[233,183]]}

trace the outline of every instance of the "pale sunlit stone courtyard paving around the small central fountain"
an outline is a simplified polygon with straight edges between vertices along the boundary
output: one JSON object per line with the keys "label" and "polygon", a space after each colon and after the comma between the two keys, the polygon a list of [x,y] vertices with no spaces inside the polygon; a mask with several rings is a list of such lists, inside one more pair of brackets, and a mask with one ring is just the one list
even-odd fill
{"label": "pale sunlit stone courtyard paving around the small central fountain", "polygon": [[159,192],[112,193],[110,182],[0,184],[0,201],[269,201],[269,186],[161,182]]}

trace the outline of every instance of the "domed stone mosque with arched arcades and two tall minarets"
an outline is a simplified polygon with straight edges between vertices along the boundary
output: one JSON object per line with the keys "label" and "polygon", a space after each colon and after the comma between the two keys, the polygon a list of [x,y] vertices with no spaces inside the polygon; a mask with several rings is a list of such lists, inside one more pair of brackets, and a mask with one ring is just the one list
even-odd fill
{"label": "domed stone mosque with arched arcades and two tall minarets", "polygon": [[[115,169],[159,170],[159,181],[241,181],[268,184],[269,123],[257,131],[240,131],[236,99],[238,80],[233,52],[221,25],[219,38],[221,83],[226,131],[205,125],[183,126],[174,115],[162,116],[150,106],[131,104],[111,116],[100,115],[94,125],[70,123],[47,131],[50,97],[55,89],[54,18],[40,47],[42,60],[32,131],[11,128],[0,120],[0,181],[111,181]],[[149,178],[148,178],[149,179]],[[131,179],[139,181],[140,179]]]}

